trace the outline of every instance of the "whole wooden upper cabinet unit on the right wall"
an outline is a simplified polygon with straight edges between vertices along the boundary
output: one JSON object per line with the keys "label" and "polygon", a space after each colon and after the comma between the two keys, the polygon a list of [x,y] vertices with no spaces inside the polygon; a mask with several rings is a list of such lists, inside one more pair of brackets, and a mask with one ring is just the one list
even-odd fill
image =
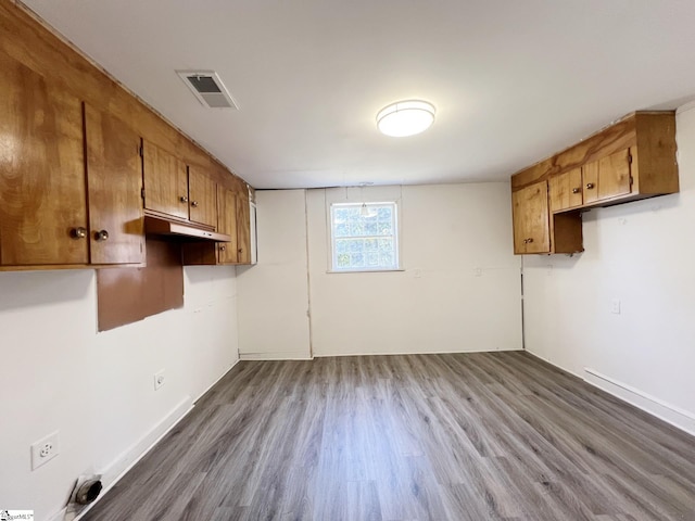
{"label": "whole wooden upper cabinet unit on the right wall", "polygon": [[511,176],[516,253],[540,253],[519,243],[535,238],[517,206],[542,182],[549,187],[549,252],[583,251],[580,211],[679,191],[675,113],[636,112]]}

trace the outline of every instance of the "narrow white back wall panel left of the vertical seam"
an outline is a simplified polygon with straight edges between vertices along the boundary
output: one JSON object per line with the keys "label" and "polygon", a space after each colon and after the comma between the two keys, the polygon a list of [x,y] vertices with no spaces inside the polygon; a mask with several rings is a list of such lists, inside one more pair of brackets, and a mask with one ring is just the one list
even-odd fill
{"label": "narrow white back wall panel left of the vertical seam", "polygon": [[258,264],[237,268],[242,359],[312,356],[304,193],[256,191]]}

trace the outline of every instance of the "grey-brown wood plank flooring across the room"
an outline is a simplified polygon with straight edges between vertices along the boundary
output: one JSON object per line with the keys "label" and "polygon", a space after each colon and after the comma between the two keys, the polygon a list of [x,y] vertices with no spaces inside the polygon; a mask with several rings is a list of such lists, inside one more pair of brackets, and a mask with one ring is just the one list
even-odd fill
{"label": "grey-brown wood plank flooring across the room", "polygon": [[695,439],[523,352],[243,361],[84,519],[695,520]]}

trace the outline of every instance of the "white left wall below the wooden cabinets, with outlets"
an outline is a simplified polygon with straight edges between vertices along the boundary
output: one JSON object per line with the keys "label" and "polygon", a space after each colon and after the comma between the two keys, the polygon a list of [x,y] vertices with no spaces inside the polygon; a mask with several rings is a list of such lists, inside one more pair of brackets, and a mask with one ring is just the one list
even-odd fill
{"label": "white left wall below the wooden cabinets, with outlets", "polygon": [[[184,308],[102,333],[93,270],[0,274],[0,507],[39,521],[78,474],[113,482],[237,360],[233,267],[186,268]],[[31,471],[55,430],[59,456]]]}

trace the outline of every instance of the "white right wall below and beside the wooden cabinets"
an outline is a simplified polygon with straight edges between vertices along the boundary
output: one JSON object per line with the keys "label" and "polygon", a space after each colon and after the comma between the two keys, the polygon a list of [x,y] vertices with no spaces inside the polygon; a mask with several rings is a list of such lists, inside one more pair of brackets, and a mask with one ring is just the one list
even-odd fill
{"label": "white right wall below and beside the wooden cabinets", "polygon": [[526,347],[695,433],[695,106],[677,139],[680,193],[584,214],[572,258],[525,257]]}

